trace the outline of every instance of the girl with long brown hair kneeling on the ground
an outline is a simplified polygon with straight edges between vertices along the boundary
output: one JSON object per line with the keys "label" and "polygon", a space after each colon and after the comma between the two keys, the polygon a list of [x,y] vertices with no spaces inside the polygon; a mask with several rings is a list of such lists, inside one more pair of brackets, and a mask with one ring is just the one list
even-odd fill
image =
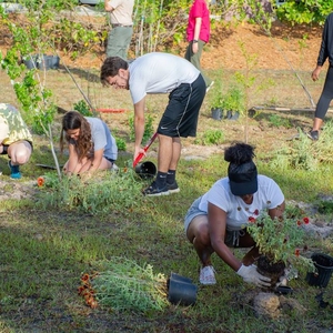
{"label": "girl with long brown hair kneeling on the ground", "polygon": [[62,118],[60,149],[68,144],[69,160],[63,167],[65,174],[92,173],[117,168],[118,148],[108,125],[99,118],[83,117],[69,111]]}

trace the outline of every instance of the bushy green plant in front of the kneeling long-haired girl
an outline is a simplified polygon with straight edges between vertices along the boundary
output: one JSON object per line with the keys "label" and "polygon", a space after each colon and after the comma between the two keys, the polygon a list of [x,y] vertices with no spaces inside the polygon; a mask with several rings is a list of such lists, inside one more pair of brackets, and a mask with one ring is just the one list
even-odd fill
{"label": "bushy green plant in front of the kneeling long-haired girl", "polygon": [[130,214],[144,200],[141,186],[130,167],[120,168],[117,173],[98,171],[89,179],[82,174],[57,180],[54,175],[47,174],[40,188],[38,205],[91,214],[110,211],[128,211]]}

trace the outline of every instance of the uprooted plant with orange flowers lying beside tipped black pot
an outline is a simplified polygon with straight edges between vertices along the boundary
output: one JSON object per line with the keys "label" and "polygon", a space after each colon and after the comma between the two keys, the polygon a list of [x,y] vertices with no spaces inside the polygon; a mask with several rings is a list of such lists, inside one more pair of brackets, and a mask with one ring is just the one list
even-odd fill
{"label": "uprooted plant with orange flowers lying beside tipped black pot", "polygon": [[[133,260],[112,258],[98,263],[99,272],[83,275],[79,294],[95,307],[95,302],[113,311],[162,311],[168,306],[167,279],[153,273],[153,266],[139,265]],[[91,292],[91,290],[93,292]]]}

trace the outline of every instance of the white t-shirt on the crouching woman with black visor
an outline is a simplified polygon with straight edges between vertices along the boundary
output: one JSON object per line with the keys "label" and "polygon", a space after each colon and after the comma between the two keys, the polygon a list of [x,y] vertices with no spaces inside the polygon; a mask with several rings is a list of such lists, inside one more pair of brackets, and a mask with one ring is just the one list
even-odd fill
{"label": "white t-shirt on the crouching woman with black visor", "polygon": [[280,186],[270,178],[258,175],[258,191],[253,194],[251,204],[246,204],[240,196],[230,191],[229,178],[216,181],[201,198],[199,209],[208,212],[208,203],[212,203],[226,212],[226,230],[240,230],[262,211],[275,209],[284,201]]}

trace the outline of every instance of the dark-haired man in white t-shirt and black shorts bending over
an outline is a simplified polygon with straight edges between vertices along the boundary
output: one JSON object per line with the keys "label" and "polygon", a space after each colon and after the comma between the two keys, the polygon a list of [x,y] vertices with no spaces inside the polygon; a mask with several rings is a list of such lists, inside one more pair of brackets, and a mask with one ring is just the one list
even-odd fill
{"label": "dark-haired man in white t-shirt and black shorts bending over", "polygon": [[130,90],[134,104],[134,160],[144,153],[141,144],[147,94],[169,93],[169,103],[158,128],[158,174],[143,194],[179,192],[175,172],[181,155],[180,138],[196,135],[199,111],[205,95],[205,82],[200,71],[188,60],[169,53],[148,53],[131,63],[111,57],[101,68],[101,82]]}

